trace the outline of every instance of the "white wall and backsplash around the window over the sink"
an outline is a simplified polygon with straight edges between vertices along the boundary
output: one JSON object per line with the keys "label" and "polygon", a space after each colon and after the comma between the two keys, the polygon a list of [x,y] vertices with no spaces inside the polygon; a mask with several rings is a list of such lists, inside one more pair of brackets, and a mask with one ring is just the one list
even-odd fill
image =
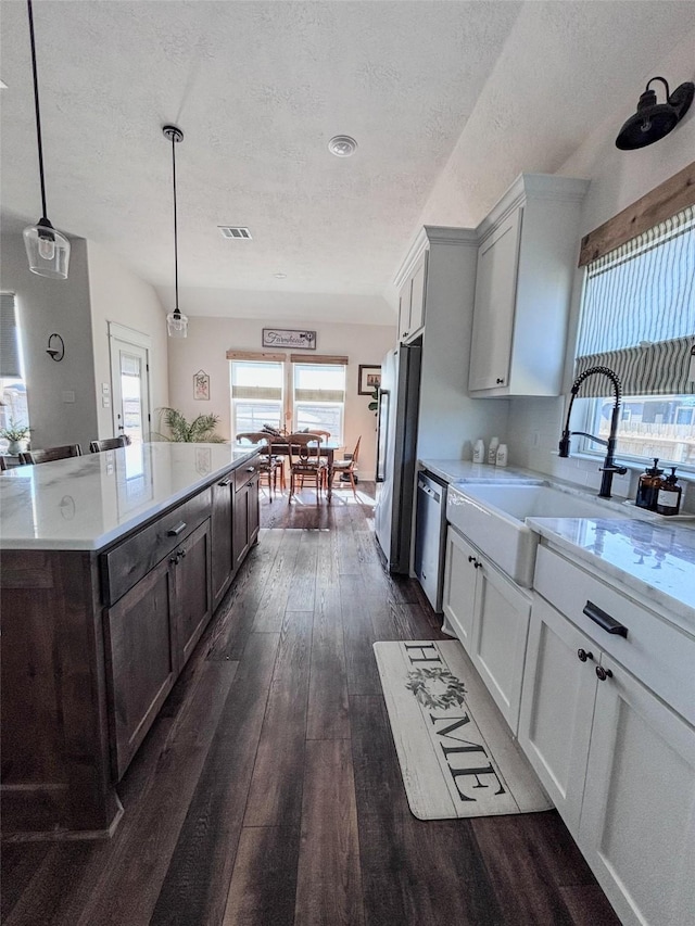
{"label": "white wall and backsplash around the window over the sink", "polygon": [[[662,74],[671,85],[695,79],[693,34],[673,50],[650,74]],[[581,234],[584,236],[659,183],[687,166],[695,157],[695,110],[667,138],[639,151],[619,151],[615,137],[624,119],[636,109],[640,87],[626,97],[615,116],[597,126],[583,144],[566,161],[559,174],[590,177],[591,187],[584,200]],[[526,165],[527,167],[529,165]],[[566,388],[571,385],[572,358],[582,272],[576,275],[572,296],[572,320],[566,358]],[[556,455],[563,419],[564,398],[516,398],[509,416],[509,455],[514,464],[569,479],[590,487],[598,487],[597,462],[577,457],[560,459]],[[633,497],[636,474],[614,480],[616,494]],[[691,493],[695,500],[695,491]]]}

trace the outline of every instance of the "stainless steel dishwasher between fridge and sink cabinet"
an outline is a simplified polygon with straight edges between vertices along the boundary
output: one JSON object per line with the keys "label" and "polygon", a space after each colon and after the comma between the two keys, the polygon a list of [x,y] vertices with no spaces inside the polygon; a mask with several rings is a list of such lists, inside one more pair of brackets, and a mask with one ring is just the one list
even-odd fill
{"label": "stainless steel dishwasher between fridge and sink cabinet", "polygon": [[415,528],[415,574],[430,605],[442,610],[444,538],[446,534],[446,485],[419,472]]}

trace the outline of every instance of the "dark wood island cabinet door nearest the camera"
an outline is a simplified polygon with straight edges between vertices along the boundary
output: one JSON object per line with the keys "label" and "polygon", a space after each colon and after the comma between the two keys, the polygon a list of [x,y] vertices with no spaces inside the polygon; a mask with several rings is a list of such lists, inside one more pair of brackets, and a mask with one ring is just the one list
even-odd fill
{"label": "dark wood island cabinet door nearest the camera", "polygon": [[106,611],[113,718],[112,764],[119,781],[176,680],[172,642],[174,567],[167,557]]}

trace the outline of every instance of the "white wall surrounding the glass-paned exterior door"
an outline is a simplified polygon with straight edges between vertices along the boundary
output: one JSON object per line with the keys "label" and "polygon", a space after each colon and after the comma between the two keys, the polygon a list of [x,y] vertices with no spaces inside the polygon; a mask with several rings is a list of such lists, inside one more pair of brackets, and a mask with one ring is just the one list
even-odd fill
{"label": "white wall surrounding the glass-paned exterior door", "polygon": [[103,408],[101,403],[101,383],[111,382],[109,321],[117,321],[151,338],[150,405],[151,408],[157,408],[168,405],[166,312],[154,287],[136,277],[101,245],[93,241],[87,242],[87,256],[98,436],[111,437],[114,436],[113,409]]}

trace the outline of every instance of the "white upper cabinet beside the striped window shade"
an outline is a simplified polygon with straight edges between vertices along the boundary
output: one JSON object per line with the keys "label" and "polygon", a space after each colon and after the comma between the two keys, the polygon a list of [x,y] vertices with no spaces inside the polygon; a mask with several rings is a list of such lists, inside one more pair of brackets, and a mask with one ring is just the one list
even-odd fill
{"label": "white upper cabinet beside the striped window shade", "polygon": [[478,227],[471,394],[559,395],[587,187],[522,174]]}

